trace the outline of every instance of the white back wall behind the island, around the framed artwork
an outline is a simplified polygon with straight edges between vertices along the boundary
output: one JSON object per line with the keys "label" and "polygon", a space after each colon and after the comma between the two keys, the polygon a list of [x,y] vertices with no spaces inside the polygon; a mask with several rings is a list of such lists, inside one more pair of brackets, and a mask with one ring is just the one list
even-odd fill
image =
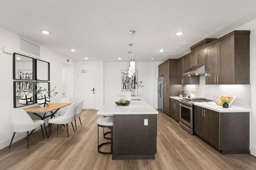
{"label": "white back wall behind the island, around the framed artwork", "polygon": [[[138,89],[138,95],[154,108],[157,108],[157,77],[160,63],[162,62],[136,62],[137,79],[143,81],[142,84],[145,86]],[[121,91],[121,70],[128,70],[129,64],[129,62],[104,63],[104,103],[118,95],[125,95],[126,91]]]}

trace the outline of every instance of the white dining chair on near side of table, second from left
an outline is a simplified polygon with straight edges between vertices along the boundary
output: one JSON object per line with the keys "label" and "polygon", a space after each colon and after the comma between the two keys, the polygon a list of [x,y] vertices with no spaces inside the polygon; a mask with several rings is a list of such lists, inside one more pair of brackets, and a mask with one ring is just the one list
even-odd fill
{"label": "white dining chair on near side of table, second from left", "polygon": [[[56,116],[56,117],[53,117],[52,119],[50,119],[49,120],[50,132],[51,132],[52,124],[57,124],[57,125],[66,124],[66,129],[67,129],[67,133],[68,133],[68,123],[71,123],[73,130],[75,131],[73,123],[72,123],[72,121],[74,119],[75,109],[76,109],[76,103],[72,103],[63,116]],[[58,127],[57,127],[57,130],[58,130]],[[49,136],[50,136],[50,132],[49,132]],[[69,135],[68,135],[68,138],[69,138]]]}

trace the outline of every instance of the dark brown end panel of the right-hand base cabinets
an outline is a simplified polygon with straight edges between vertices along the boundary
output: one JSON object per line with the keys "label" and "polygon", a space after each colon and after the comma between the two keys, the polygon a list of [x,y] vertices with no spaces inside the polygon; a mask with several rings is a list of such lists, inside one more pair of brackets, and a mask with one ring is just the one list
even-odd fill
{"label": "dark brown end panel of the right-hand base cabinets", "polygon": [[250,113],[220,113],[222,154],[249,154]]}

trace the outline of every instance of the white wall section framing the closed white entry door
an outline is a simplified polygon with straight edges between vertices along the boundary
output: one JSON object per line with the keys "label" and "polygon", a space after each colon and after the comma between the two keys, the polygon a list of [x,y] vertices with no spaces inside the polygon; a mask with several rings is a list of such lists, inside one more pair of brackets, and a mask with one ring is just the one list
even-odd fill
{"label": "white wall section framing the closed white entry door", "polygon": [[103,78],[103,67],[104,67],[104,62],[103,61],[76,61],[76,67],[75,67],[75,86],[76,91],[75,91],[75,97],[74,99],[77,99],[77,80],[78,80],[78,70],[95,70],[96,71],[96,87],[95,87],[95,99],[96,99],[96,105],[95,109],[98,110],[100,107],[103,106],[104,103],[104,93],[103,93],[103,85],[104,85],[104,78]]}

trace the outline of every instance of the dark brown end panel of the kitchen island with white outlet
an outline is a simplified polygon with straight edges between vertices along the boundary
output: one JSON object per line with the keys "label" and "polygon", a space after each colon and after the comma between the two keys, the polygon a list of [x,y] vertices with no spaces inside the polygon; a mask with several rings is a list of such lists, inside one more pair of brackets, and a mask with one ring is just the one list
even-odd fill
{"label": "dark brown end panel of the kitchen island with white outlet", "polygon": [[[154,158],[157,115],[114,115],[113,118],[112,159]],[[147,126],[144,125],[144,119],[148,119]]]}

